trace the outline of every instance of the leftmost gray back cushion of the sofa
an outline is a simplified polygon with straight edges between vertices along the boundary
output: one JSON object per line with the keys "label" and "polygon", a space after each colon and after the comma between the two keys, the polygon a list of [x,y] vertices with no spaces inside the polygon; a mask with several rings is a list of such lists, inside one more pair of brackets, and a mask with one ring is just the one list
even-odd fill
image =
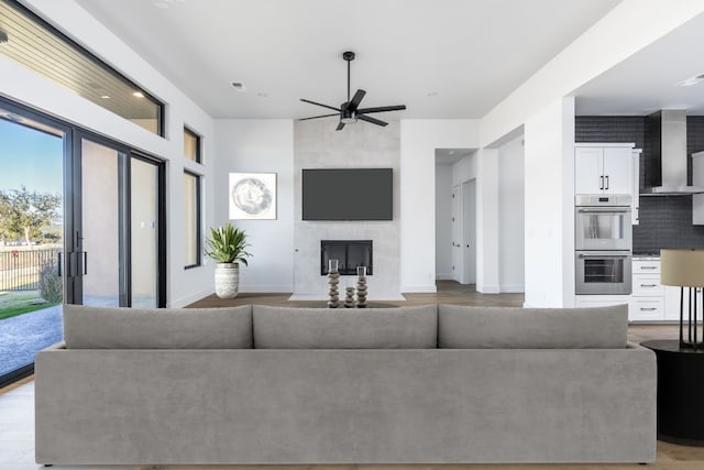
{"label": "leftmost gray back cushion of the sofa", "polygon": [[252,348],[252,306],[110,308],[64,305],[69,349]]}

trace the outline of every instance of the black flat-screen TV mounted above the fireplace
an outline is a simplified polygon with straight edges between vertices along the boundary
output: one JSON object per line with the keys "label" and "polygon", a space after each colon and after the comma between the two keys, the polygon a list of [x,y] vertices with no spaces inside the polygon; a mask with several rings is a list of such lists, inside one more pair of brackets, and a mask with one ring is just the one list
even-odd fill
{"label": "black flat-screen TV mounted above the fireplace", "polygon": [[304,220],[393,220],[393,168],[302,170]]}

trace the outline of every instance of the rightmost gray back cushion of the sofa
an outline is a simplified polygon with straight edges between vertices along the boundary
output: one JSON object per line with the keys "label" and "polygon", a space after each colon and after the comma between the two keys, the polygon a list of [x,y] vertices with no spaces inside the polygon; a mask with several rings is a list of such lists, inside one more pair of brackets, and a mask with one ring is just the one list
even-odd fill
{"label": "rightmost gray back cushion of the sofa", "polygon": [[440,348],[626,348],[628,306],[513,308],[440,305]]}

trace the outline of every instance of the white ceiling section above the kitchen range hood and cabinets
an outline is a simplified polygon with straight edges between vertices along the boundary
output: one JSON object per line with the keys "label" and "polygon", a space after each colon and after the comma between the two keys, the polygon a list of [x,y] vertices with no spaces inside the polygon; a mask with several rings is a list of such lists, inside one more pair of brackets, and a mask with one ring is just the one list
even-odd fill
{"label": "white ceiling section above the kitchen range hood and cabinets", "polygon": [[644,116],[658,109],[704,114],[704,80],[680,81],[704,74],[704,14],[605,72],[575,92],[582,116]]}

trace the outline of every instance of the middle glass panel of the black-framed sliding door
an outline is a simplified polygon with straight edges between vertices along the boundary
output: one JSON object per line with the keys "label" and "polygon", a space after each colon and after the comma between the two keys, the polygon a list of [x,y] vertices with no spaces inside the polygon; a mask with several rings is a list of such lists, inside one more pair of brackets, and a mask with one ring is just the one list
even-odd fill
{"label": "middle glass panel of the black-framed sliding door", "polygon": [[82,280],[82,304],[120,306],[120,153],[81,141],[80,250],[72,263]]}

